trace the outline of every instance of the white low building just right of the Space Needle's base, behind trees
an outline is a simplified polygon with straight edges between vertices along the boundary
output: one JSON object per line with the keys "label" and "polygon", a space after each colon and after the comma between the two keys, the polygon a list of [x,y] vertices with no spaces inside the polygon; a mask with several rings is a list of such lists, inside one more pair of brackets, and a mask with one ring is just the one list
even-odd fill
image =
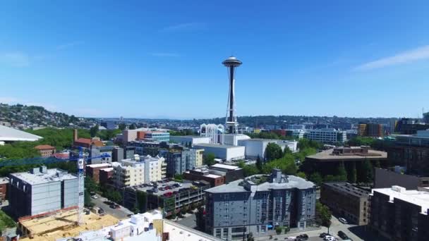
{"label": "white low building just right of the Space Needle's base, behind trees", "polygon": [[298,142],[296,141],[287,141],[287,140],[270,140],[270,139],[249,139],[249,140],[239,140],[238,145],[246,147],[246,158],[248,159],[257,159],[258,156],[261,159],[265,158],[265,149],[267,144],[276,143],[284,150],[288,147],[291,152],[296,152]]}

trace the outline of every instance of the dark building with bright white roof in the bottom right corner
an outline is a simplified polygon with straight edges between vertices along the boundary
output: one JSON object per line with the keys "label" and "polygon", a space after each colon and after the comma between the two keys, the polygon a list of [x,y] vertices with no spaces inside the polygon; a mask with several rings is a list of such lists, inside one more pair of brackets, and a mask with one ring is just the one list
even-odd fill
{"label": "dark building with bright white roof in the bottom right corner", "polygon": [[423,241],[429,237],[429,192],[404,187],[373,189],[370,228],[388,240]]}

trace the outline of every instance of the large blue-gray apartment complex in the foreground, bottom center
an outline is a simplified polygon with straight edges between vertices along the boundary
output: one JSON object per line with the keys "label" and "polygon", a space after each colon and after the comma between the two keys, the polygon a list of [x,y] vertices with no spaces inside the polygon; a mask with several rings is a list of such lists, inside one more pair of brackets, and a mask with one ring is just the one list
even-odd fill
{"label": "large blue-gray apartment complex in the foreground, bottom center", "polygon": [[273,169],[206,192],[206,232],[223,240],[272,234],[276,226],[306,229],[315,220],[315,185]]}

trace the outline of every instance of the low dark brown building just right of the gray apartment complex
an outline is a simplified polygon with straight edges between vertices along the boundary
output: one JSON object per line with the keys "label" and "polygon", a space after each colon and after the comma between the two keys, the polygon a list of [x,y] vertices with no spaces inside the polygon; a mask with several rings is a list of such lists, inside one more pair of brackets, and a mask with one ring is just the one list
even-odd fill
{"label": "low dark brown building just right of the gray apartment complex", "polygon": [[369,223],[369,190],[350,183],[323,183],[320,188],[320,202],[330,207],[335,214],[346,218],[349,223]]}

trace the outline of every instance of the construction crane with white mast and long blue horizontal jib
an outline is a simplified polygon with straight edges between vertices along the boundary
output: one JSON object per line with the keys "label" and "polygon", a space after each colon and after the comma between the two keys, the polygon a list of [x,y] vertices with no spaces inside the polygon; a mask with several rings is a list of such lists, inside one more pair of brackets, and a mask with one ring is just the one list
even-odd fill
{"label": "construction crane with white mast and long blue horizontal jib", "polygon": [[3,166],[20,166],[20,165],[30,165],[30,164],[49,164],[49,163],[58,163],[63,161],[77,161],[78,167],[78,225],[83,224],[83,206],[85,203],[85,162],[92,159],[98,158],[107,158],[110,157],[109,154],[103,153],[101,156],[83,156],[83,147],[79,147],[78,157],[68,158],[68,159],[57,159],[54,156],[48,158],[36,157],[31,159],[20,159],[20,160],[6,160],[0,161],[0,167]]}

